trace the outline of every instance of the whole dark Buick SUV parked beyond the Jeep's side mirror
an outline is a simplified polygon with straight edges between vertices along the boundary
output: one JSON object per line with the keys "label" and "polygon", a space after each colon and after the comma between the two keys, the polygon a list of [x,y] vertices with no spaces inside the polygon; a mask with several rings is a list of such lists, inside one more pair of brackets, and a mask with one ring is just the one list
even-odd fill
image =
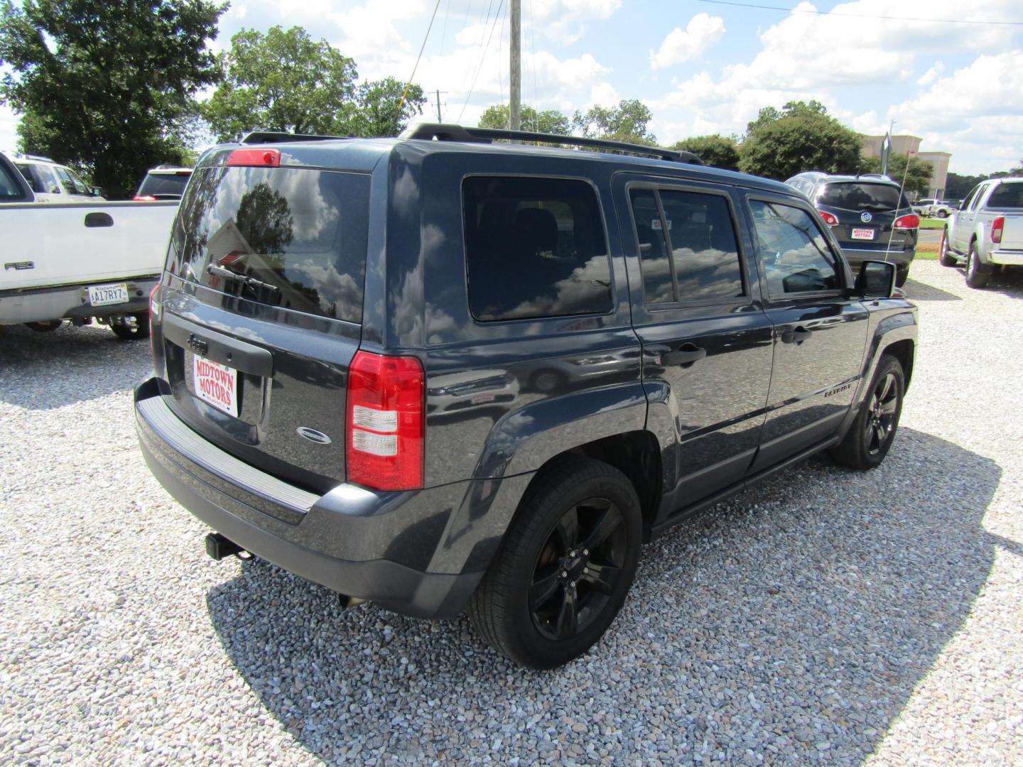
{"label": "whole dark Buick SUV parked beyond the Jeep's side mirror", "polygon": [[884,259],[898,267],[896,284],[909,276],[917,255],[920,216],[897,183],[887,176],[834,176],[800,173],[787,184],[802,191],[831,229],[853,269],[865,259]]}

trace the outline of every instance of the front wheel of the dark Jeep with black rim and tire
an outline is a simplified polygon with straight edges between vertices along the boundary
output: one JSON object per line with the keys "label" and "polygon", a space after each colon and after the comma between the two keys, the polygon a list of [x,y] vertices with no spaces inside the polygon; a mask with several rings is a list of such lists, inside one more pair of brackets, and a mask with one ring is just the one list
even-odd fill
{"label": "front wheel of the dark Jeep with black rim and tire", "polygon": [[835,462],[860,470],[879,466],[895,440],[904,394],[902,365],[891,355],[882,356],[849,433],[832,448]]}

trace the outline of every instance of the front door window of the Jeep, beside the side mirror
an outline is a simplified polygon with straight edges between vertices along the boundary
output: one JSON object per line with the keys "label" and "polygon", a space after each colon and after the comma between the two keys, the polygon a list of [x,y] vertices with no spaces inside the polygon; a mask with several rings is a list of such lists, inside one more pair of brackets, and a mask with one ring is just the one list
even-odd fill
{"label": "front door window of the Jeep, beside the side mirror", "polygon": [[842,286],[837,261],[808,213],[777,202],[750,200],[771,296]]}

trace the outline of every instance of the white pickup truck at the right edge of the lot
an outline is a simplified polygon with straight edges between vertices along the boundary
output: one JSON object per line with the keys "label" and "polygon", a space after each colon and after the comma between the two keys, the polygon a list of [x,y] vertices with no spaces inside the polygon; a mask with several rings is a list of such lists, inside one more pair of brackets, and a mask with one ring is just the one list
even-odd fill
{"label": "white pickup truck at the right edge of the lot", "polygon": [[941,264],[966,263],[966,282],[983,287],[996,269],[1023,266],[1023,178],[977,184],[948,219]]}

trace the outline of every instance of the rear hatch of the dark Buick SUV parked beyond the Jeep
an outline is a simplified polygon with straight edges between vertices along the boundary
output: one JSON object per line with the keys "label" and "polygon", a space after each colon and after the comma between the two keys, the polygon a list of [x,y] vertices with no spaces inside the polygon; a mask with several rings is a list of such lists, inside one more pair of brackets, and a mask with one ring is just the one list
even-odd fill
{"label": "rear hatch of the dark Buick SUV parked beyond the Jeep", "polygon": [[917,246],[916,228],[892,226],[899,217],[913,214],[909,200],[897,186],[862,180],[832,181],[817,194],[816,206],[838,220],[832,233],[843,249],[883,254]]}

